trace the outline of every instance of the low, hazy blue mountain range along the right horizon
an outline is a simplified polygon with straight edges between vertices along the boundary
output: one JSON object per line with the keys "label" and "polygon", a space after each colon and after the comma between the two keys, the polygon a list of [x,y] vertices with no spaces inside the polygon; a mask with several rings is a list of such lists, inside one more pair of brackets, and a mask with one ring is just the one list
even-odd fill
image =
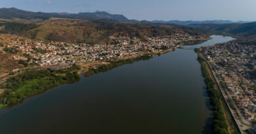
{"label": "low, hazy blue mountain range along the right horizon", "polygon": [[162,24],[178,24],[178,25],[190,25],[190,24],[242,24],[247,23],[243,21],[232,22],[230,20],[205,20],[205,21],[179,21],[179,20],[170,20],[170,21],[162,21],[162,20],[154,20],[154,23],[162,23]]}

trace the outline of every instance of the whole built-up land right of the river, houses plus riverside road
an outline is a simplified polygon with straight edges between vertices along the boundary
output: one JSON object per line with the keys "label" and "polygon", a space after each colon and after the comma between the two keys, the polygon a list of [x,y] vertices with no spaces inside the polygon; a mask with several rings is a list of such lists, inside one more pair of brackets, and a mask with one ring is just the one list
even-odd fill
{"label": "whole built-up land right of the river, houses plus riverside road", "polygon": [[241,133],[255,131],[255,45],[230,41],[200,53]]}

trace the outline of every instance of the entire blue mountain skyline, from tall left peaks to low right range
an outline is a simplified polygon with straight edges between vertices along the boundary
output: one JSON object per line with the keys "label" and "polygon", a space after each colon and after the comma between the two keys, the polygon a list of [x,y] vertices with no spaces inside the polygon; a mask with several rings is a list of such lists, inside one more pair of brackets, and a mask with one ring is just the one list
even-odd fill
{"label": "entire blue mountain skyline, from tall left peaks to low right range", "polygon": [[179,20],[134,20],[128,19],[122,14],[110,14],[104,11],[96,12],[79,12],[79,13],[68,13],[68,12],[32,12],[27,10],[20,10],[18,8],[0,8],[0,18],[3,19],[24,19],[24,20],[48,20],[49,18],[70,18],[70,19],[81,19],[81,20],[116,20],[119,22],[142,22],[142,23],[160,23],[160,24],[177,24],[177,25],[190,25],[190,24],[242,24],[247,23],[244,21],[232,22],[230,20],[205,20],[205,21],[179,21]]}

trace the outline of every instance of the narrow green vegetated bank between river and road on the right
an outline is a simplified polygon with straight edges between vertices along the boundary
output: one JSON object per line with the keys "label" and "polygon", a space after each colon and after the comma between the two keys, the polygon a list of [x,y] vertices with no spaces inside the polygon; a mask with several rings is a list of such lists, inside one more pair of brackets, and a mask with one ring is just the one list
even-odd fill
{"label": "narrow green vegetated bank between river and road on the right", "polygon": [[200,48],[196,48],[195,52],[198,54],[198,61],[202,65],[202,74],[205,78],[205,84],[207,85],[207,93],[211,99],[211,105],[213,105],[214,122],[212,129],[214,133],[240,133],[238,124],[236,124],[229,107],[226,105],[226,102],[221,95],[221,91],[219,90],[215,79],[211,75],[211,70],[205,59],[200,56]]}

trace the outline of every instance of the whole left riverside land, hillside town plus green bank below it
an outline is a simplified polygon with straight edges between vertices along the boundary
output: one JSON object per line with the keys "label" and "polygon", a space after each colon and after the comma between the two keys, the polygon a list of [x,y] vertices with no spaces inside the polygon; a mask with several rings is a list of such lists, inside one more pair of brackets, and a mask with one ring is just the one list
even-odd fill
{"label": "whole left riverside land, hillside town plus green bank below it", "polygon": [[175,50],[186,42],[209,39],[186,33],[148,37],[146,41],[136,37],[112,36],[110,38],[116,44],[89,45],[1,36],[1,55],[11,56],[12,65],[2,67],[0,107],[15,105],[26,97],[77,80],[81,72],[91,75]]}

